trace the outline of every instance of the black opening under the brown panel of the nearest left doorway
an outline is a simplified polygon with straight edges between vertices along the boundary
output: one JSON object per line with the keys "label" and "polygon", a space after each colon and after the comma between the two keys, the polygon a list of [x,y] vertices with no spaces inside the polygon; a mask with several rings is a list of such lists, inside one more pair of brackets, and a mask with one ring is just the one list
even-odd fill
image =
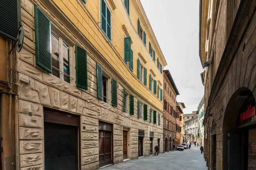
{"label": "black opening under the brown panel of the nearest left doorway", "polygon": [[78,127],[44,122],[45,170],[78,170]]}

